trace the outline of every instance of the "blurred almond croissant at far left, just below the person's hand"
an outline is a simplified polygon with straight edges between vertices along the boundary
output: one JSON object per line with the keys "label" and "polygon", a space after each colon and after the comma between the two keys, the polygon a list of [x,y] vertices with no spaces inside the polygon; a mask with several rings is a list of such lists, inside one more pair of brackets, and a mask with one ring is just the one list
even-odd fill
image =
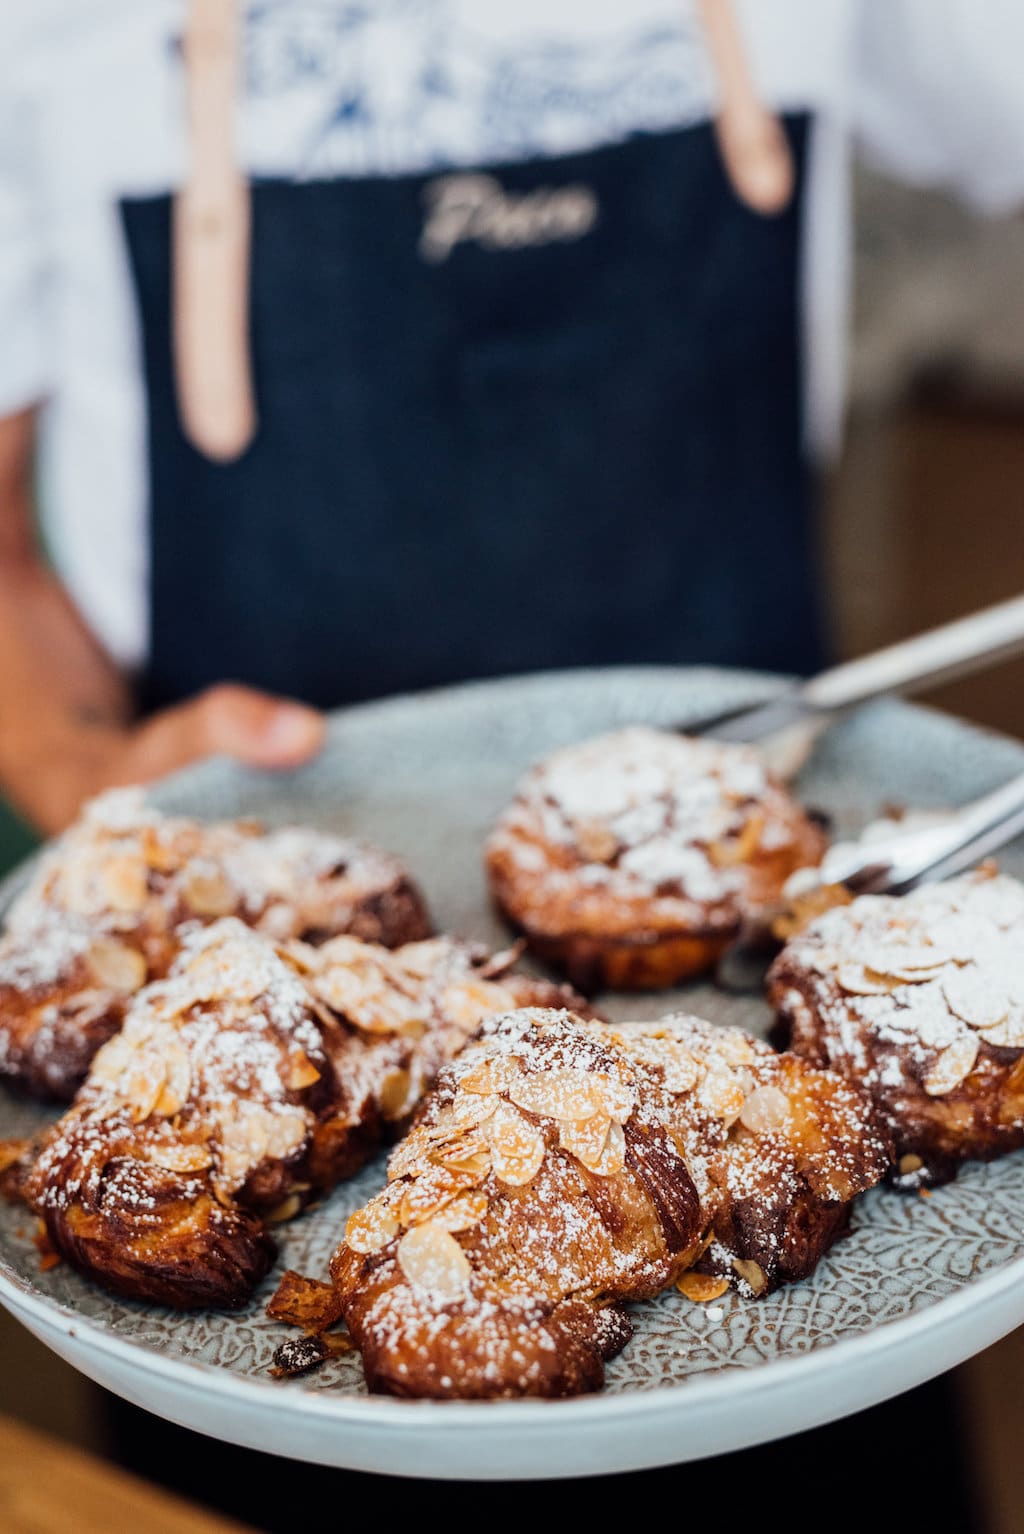
{"label": "blurred almond croissant at far left, just below the person's hand", "polygon": [[90,804],[48,851],[0,940],[0,1078],[67,1100],[167,973],[182,928],[238,916],[276,939],[354,933],[388,946],[429,933],[402,864],[323,831],[202,824],[141,792]]}

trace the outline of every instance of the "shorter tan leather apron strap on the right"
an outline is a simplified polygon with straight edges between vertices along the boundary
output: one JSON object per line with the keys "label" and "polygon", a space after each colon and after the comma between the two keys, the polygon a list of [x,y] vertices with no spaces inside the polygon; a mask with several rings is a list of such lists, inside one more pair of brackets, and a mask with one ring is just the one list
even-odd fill
{"label": "shorter tan leather apron strap on the right", "polygon": [[756,213],[782,213],[796,176],[779,118],[757,94],[731,0],[696,0],[717,75],[714,132],[733,190]]}

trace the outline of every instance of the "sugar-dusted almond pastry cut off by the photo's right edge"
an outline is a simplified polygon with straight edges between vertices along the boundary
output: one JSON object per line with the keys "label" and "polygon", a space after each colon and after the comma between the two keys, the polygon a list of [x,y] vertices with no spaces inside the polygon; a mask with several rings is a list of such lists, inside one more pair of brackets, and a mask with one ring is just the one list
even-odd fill
{"label": "sugar-dusted almond pastry cut off by the photo's right edge", "polygon": [[1024,885],[978,873],[865,894],[796,937],[768,976],[791,1049],[871,1092],[897,1181],[1024,1146]]}

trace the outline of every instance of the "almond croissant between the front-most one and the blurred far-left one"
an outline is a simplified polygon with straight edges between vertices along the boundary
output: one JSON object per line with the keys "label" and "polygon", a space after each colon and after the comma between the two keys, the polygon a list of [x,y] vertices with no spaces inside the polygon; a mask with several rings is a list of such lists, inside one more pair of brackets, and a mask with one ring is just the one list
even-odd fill
{"label": "almond croissant between the front-most one and the blurred far-left one", "polygon": [[351,1175],[492,1006],[553,991],[500,968],[449,939],[317,950],[230,917],[196,928],[97,1054],[23,1197],[107,1289],[238,1305],[273,1259],[268,1224]]}

